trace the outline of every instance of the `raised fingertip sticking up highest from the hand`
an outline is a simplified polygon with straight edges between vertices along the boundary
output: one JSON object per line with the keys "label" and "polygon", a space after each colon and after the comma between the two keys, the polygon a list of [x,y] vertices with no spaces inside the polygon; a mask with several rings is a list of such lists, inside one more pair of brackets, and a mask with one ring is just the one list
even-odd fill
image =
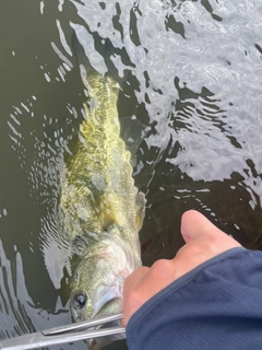
{"label": "raised fingertip sticking up highest from the hand", "polygon": [[209,233],[219,232],[213,223],[195,210],[186,211],[181,220],[181,234],[186,243]]}

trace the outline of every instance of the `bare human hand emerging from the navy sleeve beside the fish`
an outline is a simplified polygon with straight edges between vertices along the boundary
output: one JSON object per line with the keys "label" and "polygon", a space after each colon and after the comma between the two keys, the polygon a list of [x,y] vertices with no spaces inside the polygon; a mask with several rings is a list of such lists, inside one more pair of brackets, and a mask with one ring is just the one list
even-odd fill
{"label": "bare human hand emerging from the navy sleeve beside the fish", "polygon": [[194,210],[183,213],[181,234],[186,245],[174,259],[157,260],[151,268],[143,266],[126,279],[122,325],[127,325],[132,314],[148,299],[179,277],[221,253],[241,246]]}

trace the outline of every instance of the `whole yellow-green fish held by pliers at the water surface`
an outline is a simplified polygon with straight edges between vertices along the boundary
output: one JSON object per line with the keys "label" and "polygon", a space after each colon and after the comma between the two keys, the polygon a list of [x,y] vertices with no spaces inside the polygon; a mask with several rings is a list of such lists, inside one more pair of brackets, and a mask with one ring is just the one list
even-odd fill
{"label": "whole yellow-green fish held by pliers at the water surface", "polygon": [[[62,234],[74,252],[68,283],[74,322],[122,312],[124,279],[142,265],[139,232],[146,203],[120,137],[119,82],[109,73],[85,72],[85,116],[64,152],[59,203]],[[93,339],[88,347],[121,337]]]}

